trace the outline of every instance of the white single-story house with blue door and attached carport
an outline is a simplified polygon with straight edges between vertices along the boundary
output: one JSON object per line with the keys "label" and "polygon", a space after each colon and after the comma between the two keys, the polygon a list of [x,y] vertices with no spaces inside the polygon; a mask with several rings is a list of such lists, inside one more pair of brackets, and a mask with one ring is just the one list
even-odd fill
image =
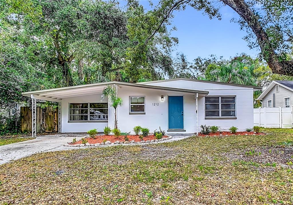
{"label": "white single-story house with blue door and attached carport", "polygon": [[[32,98],[33,127],[35,101],[59,102],[60,132],[103,131],[114,127],[114,109],[108,98],[101,101],[106,86],[114,86],[123,105],[117,108],[118,127],[132,132],[140,125],[152,132],[196,133],[200,125],[217,125],[239,131],[253,127],[253,91],[261,87],[203,81],[188,78],[143,83],[106,82],[22,93]],[[33,128],[34,135],[34,128]]]}

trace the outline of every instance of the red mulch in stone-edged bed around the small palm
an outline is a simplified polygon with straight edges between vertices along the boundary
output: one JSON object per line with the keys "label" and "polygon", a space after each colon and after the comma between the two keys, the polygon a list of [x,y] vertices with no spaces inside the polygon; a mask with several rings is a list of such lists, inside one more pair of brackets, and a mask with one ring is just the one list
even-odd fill
{"label": "red mulch in stone-edged bed around the small palm", "polygon": [[[88,143],[90,144],[96,144],[96,143],[101,143],[103,142],[105,139],[106,141],[110,141],[110,142],[115,142],[115,141],[125,141],[124,140],[125,136],[120,135],[119,137],[116,137],[114,135],[97,135],[95,136],[95,138],[91,138],[91,137],[87,137],[86,139],[88,140]],[[134,140],[135,142],[141,141],[141,139],[139,139],[139,135],[127,135],[127,137],[129,138],[129,141]],[[163,138],[165,138],[167,136],[163,136]],[[147,140],[153,140],[156,139],[154,135],[149,135],[144,137],[142,140],[147,141]],[[81,144],[81,140],[75,142],[75,143],[69,143],[71,145],[74,144]]]}

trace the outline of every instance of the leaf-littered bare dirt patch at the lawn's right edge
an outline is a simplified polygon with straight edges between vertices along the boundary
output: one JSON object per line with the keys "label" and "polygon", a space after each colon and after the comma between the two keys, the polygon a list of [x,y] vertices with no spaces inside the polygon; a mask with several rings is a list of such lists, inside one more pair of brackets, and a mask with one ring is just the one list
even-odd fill
{"label": "leaf-littered bare dirt patch at the lawn's right edge", "polygon": [[293,146],[261,147],[224,153],[230,160],[252,161],[258,164],[290,165],[293,161]]}

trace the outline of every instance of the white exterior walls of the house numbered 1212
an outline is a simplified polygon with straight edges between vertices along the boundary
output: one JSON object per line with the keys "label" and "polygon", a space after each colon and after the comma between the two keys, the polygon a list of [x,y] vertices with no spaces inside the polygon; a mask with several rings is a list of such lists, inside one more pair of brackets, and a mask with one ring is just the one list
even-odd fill
{"label": "white exterior walls of the house numbered 1212", "polygon": [[[176,88],[187,88],[195,90],[209,91],[209,95],[235,95],[236,96],[236,117],[237,119],[205,119],[205,98],[198,98],[198,124],[217,125],[223,130],[228,130],[231,126],[236,126],[239,131],[248,127],[253,127],[253,88],[222,85],[215,83],[195,82],[195,81],[166,81],[151,83],[151,85],[168,86]],[[164,101],[161,101],[164,95]],[[133,127],[140,125],[148,127],[150,132],[155,129],[168,130],[168,95],[183,95],[184,99],[184,129],[183,133],[196,132],[196,105],[195,95],[160,91],[148,88],[135,88],[131,86],[118,86],[118,96],[123,99],[123,105],[118,107],[117,119],[118,127],[122,132],[133,133]],[[145,96],[145,115],[129,114],[129,96]],[[104,127],[114,126],[114,115],[112,108],[108,109],[108,123],[106,122],[68,122],[68,103],[69,102],[100,102],[100,94],[85,95],[73,98],[62,99],[62,132],[85,132],[97,128],[103,131]],[[107,102],[107,99],[104,100]],[[159,103],[159,105],[152,105]],[[200,127],[199,127],[200,130]],[[168,132],[167,132],[168,133]],[[174,133],[174,132],[169,132]],[[182,132],[178,132],[182,133]]]}

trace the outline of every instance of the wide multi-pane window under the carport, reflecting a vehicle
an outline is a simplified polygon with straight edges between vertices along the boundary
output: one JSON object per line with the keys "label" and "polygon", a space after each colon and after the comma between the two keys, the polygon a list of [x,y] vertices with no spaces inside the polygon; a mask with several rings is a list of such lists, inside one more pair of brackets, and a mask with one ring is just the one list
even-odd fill
{"label": "wide multi-pane window under the carport, reflecting a vehicle", "polygon": [[69,103],[69,121],[108,120],[108,103]]}

